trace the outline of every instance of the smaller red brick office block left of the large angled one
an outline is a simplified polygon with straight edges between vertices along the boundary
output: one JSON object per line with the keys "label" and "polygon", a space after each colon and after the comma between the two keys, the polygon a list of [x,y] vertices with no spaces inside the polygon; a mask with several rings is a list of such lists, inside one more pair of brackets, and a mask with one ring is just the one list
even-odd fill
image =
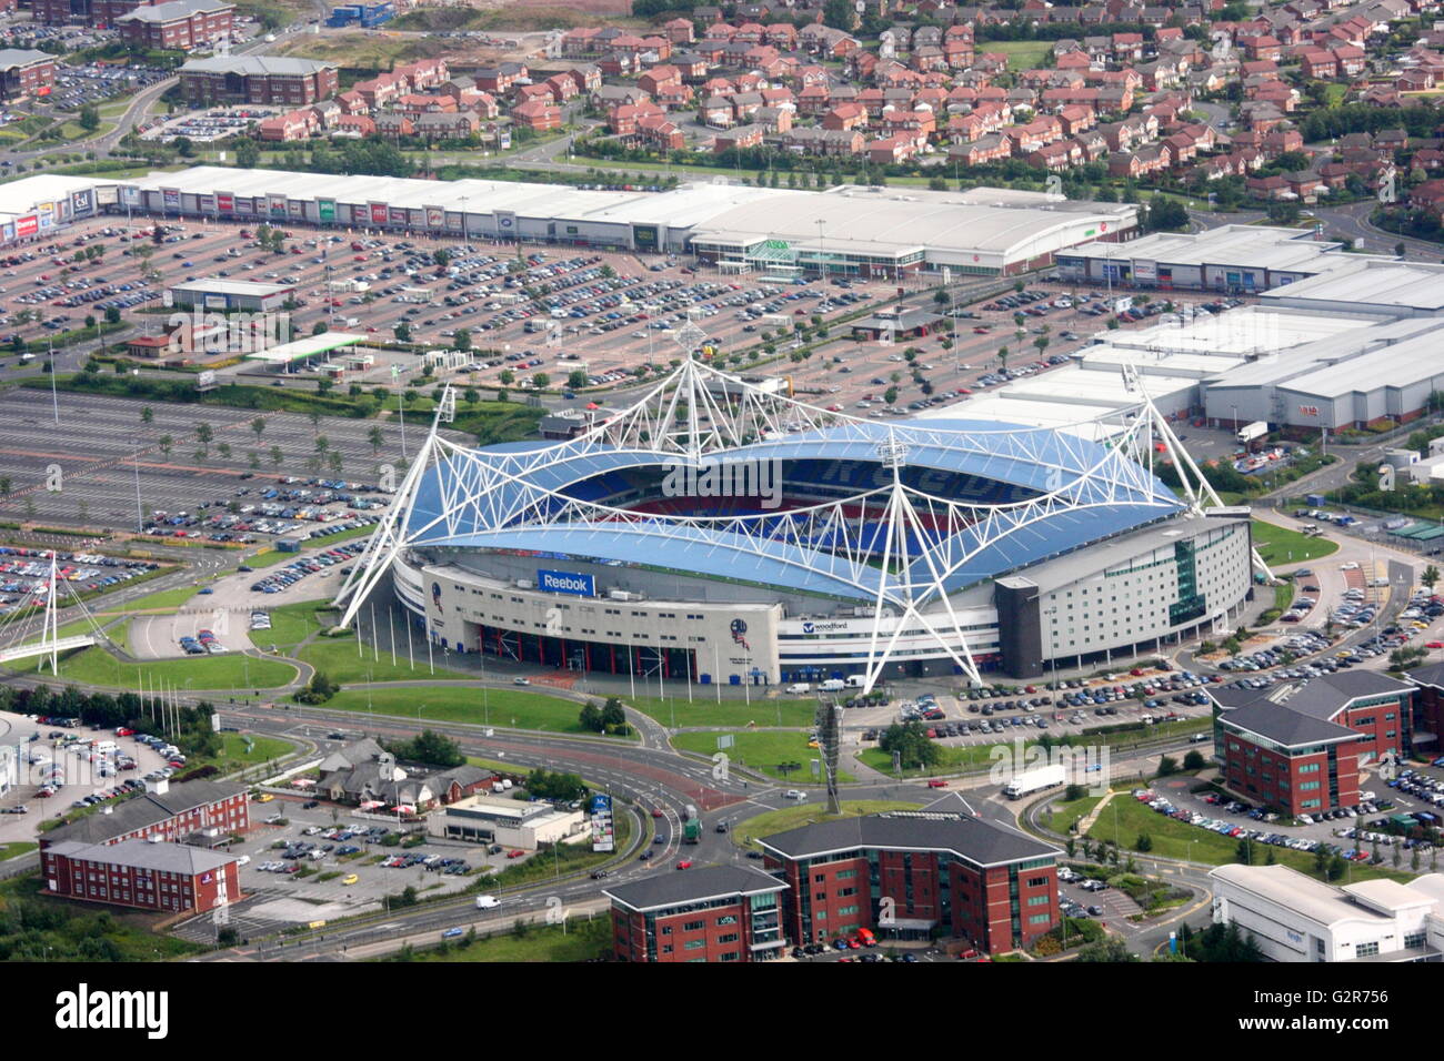
{"label": "smaller red brick office block left of the large angled one", "polygon": [[705,866],[617,885],[612,956],[618,961],[765,961],[787,946],[787,885],[751,866]]}

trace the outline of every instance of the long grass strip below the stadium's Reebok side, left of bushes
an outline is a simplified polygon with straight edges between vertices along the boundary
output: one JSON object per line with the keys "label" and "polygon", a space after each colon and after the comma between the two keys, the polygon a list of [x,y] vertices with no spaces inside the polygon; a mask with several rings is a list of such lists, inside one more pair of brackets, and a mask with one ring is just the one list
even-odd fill
{"label": "long grass strip below the stadium's Reebok side, left of bushes", "polygon": [[[485,691],[485,696],[482,696]],[[326,707],[365,712],[367,691],[345,689],[326,700]],[[510,689],[407,687],[373,689],[370,709],[377,715],[433,722],[471,722],[490,726],[540,729],[549,733],[585,733],[578,725],[582,704],[546,693]]]}

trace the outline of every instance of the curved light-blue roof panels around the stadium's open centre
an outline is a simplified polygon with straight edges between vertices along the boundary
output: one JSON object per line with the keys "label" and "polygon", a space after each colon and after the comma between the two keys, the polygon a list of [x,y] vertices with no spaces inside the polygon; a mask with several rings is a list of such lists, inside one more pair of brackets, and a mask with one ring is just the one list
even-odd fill
{"label": "curved light-blue roof panels around the stadium's open centre", "polygon": [[[1074,505],[1054,511],[999,537],[962,564],[947,580],[949,592],[1004,572],[1017,570],[1099,538],[1121,534],[1181,510],[1158,479],[1122,453],[1074,435],[996,422],[931,420],[921,424],[853,423],[819,432],[799,432],[751,446],[710,453],[731,460],[855,462],[845,476],[858,492],[890,481],[879,443],[907,446],[905,465],[1006,484],[1022,497],[1061,489]],[[589,511],[572,523],[546,523],[566,504],[565,497],[601,501],[609,489],[589,494],[589,481],[609,472],[657,468],[671,455],[656,450],[599,449],[595,443],[563,442],[539,447],[491,446],[443,456],[419,484],[407,515],[407,536],[419,546],[537,550],[576,559],[645,564],[703,577],[732,577],[797,592],[874,599],[884,575],[865,562],[852,563],[822,541],[784,541],[751,536],[722,525],[679,524],[664,515],[608,521]],[[874,475],[871,468],[877,468]],[[1105,475],[1090,473],[1102,469]],[[497,473],[516,476],[501,479]],[[947,479],[947,482],[954,482]],[[595,482],[591,484],[595,486]],[[448,498],[452,499],[448,504]],[[465,505],[455,499],[466,498]],[[449,511],[449,515],[443,515]],[[758,527],[775,521],[760,515]],[[864,531],[869,538],[871,527]],[[978,547],[979,533],[966,528],[950,538],[927,541],[936,564]],[[914,580],[931,582],[924,543],[911,541]]]}

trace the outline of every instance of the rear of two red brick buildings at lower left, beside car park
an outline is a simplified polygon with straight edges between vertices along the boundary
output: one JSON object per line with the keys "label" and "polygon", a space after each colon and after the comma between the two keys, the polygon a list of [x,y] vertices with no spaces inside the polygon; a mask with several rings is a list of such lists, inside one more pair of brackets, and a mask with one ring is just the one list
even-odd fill
{"label": "rear of two red brick buildings at lower left, beside car park", "polygon": [[230,836],[251,827],[245,790],[214,781],[147,782],[146,791],[108,813],[87,814],[68,826],[40,833],[40,850],[59,843],[123,843],[162,837],[179,842],[195,836]]}

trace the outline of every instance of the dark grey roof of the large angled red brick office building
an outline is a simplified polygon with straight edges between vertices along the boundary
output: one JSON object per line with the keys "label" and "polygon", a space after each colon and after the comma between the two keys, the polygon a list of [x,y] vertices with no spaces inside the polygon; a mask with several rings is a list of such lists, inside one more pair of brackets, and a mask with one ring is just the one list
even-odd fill
{"label": "dark grey roof of the large angled red brick office building", "polygon": [[967,814],[888,811],[858,818],[819,821],[760,837],[768,850],[790,859],[862,847],[952,852],[976,866],[1057,855],[1053,844]]}

